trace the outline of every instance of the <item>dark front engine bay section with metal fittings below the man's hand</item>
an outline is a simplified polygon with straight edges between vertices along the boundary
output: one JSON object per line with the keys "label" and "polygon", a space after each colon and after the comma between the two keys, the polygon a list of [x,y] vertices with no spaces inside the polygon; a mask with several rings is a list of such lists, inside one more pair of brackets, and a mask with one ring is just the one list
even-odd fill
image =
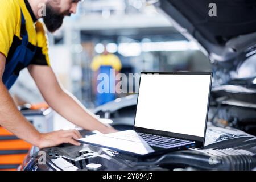
{"label": "dark front engine bay section with metal fittings below the man's hand", "polygon": [[[73,152],[68,151],[73,148]],[[133,170],[163,170],[158,166],[136,167],[126,162],[124,159],[117,158],[115,151],[105,150],[100,147],[84,145],[81,147],[65,146],[53,147],[42,150],[46,154],[46,163],[40,164],[39,151],[32,156],[28,156],[23,167],[24,171],[88,171],[88,164],[100,164],[102,171],[133,171]],[[41,151],[41,152],[42,152]],[[113,153],[112,153],[113,152]]]}

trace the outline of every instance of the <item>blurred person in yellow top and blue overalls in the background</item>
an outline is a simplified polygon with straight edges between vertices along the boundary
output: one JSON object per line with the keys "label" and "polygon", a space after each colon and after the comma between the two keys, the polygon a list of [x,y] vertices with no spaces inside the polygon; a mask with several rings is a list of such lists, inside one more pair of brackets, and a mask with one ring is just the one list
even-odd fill
{"label": "blurred person in yellow top and blue overalls in the background", "polygon": [[[113,53],[109,53],[105,45],[104,52],[94,57],[91,68],[94,72],[93,90],[96,96],[96,106],[100,106],[102,104],[115,100],[115,76],[118,75],[119,71],[122,68],[122,63],[119,60],[118,56],[114,55]],[[108,79],[101,80],[100,74],[107,75]],[[108,89],[100,89],[107,90],[108,92],[101,93],[100,90],[98,90],[98,86],[102,81],[105,82],[105,84],[108,84]]]}

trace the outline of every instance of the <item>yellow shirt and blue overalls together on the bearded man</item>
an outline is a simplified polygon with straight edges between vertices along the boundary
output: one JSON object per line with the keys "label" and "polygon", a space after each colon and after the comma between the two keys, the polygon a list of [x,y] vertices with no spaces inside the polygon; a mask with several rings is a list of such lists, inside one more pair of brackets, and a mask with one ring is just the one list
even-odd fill
{"label": "yellow shirt and blue overalls together on the bearded man", "polygon": [[1,0],[0,17],[0,53],[6,57],[2,81],[10,89],[23,68],[49,65],[48,42],[27,0]]}

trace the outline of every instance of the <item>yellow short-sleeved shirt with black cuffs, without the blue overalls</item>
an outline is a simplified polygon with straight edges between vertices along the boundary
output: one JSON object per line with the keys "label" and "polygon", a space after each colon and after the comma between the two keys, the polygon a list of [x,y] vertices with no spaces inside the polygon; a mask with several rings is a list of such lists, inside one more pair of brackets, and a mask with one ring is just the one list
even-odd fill
{"label": "yellow short-sleeved shirt with black cuffs, without the blue overalls", "polygon": [[21,11],[26,20],[28,48],[36,48],[31,64],[49,65],[48,41],[44,24],[39,22],[27,0],[1,0],[0,6],[0,52],[5,55],[6,63],[13,57],[22,42],[20,35]]}

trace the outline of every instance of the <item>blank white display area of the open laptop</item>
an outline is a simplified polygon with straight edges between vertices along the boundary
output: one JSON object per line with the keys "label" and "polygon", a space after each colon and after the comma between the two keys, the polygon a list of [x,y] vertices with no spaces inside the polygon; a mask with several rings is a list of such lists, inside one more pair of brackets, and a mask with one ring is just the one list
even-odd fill
{"label": "blank white display area of the open laptop", "polygon": [[141,75],[135,127],[204,137],[210,75]]}

